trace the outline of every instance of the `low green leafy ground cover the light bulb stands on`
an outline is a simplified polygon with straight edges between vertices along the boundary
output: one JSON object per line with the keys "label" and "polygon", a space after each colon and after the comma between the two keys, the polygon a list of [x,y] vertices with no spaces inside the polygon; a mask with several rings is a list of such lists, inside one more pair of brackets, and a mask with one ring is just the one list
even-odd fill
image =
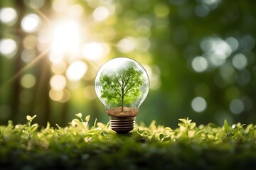
{"label": "low green leafy ground cover the light bulb stands on", "polygon": [[196,125],[178,128],[136,125],[127,135],[109,123],[89,126],[78,113],[68,126],[46,128],[27,116],[24,125],[0,126],[1,169],[255,169],[256,125]]}

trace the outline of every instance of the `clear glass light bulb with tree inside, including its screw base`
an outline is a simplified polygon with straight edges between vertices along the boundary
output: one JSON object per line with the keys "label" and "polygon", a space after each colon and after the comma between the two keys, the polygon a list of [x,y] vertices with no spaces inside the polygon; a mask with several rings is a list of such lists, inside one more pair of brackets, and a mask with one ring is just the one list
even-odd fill
{"label": "clear glass light bulb with tree inside, including its screw base", "polygon": [[110,116],[112,130],[125,134],[133,130],[139,106],[149,93],[149,76],[139,62],[117,57],[97,72],[95,91]]}

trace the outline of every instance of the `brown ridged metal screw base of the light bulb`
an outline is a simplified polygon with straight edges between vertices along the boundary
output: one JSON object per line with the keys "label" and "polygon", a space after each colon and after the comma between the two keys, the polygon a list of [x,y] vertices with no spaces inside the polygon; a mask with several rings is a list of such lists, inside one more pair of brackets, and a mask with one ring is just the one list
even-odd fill
{"label": "brown ridged metal screw base of the light bulb", "polygon": [[117,117],[110,116],[110,127],[118,134],[127,134],[133,130],[135,125],[135,117]]}

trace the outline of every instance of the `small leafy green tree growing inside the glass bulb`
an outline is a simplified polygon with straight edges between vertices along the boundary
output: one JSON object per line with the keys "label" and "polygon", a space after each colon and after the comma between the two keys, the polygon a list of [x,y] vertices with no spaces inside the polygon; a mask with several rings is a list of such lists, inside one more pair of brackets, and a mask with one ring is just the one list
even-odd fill
{"label": "small leafy green tree growing inside the glass bulb", "polygon": [[129,64],[117,72],[107,72],[100,76],[102,84],[101,97],[107,102],[121,104],[132,103],[139,98],[139,86],[142,86],[142,73],[135,69],[134,64]]}

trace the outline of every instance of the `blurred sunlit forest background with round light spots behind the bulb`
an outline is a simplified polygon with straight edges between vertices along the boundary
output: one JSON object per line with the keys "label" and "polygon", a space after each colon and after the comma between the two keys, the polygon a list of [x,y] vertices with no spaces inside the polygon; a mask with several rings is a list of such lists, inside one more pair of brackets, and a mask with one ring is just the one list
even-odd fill
{"label": "blurred sunlit forest background with round light spots behind the bulb", "polygon": [[0,124],[107,123],[102,64],[140,62],[150,91],[137,123],[256,123],[256,1],[1,0]]}

